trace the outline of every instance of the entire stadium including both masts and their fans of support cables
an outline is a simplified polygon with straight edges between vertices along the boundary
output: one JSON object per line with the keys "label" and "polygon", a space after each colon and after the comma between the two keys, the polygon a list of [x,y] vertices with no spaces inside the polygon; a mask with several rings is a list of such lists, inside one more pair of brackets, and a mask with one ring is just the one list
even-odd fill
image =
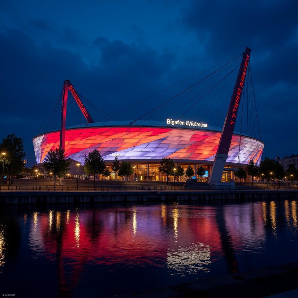
{"label": "entire stadium including both masts and their fans of support cables", "polygon": [[[51,149],[61,148],[65,150],[66,156],[73,160],[73,165],[77,163],[83,165],[88,153],[97,149],[111,172],[110,177],[108,177],[111,180],[123,179],[123,177],[116,177],[116,173],[113,173],[111,169],[111,164],[117,156],[120,162],[129,161],[133,164],[134,174],[130,179],[166,181],[166,175],[159,171],[159,165],[161,159],[167,157],[173,159],[176,166],[183,167],[184,172],[187,167],[192,167],[195,176],[197,167],[203,166],[206,169],[205,175],[202,177],[203,181],[213,183],[212,185],[223,182],[234,183],[234,171],[238,170],[236,168],[239,166],[246,167],[251,159],[256,164],[260,164],[264,149],[264,143],[260,140],[252,75],[251,71],[248,72],[250,69],[249,59],[250,49],[246,48],[243,54],[230,59],[229,62],[206,77],[197,79],[198,81],[194,84],[179,91],[178,94],[161,104],[158,103],[158,106],[152,110],[146,111],[144,109],[145,114],[143,115],[137,113],[138,118],[134,121],[116,121],[117,119],[114,117],[180,83],[141,100],[139,103],[134,103],[112,116],[92,104],[76,91],[69,80],[65,80],[63,89],[53,108],[54,113],[55,111],[59,113],[58,106],[62,103],[60,129],[46,129],[44,133],[35,136],[32,140],[37,165],[42,167],[42,163]],[[194,77],[183,80],[181,83]],[[234,79],[236,79],[236,83],[230,93],[229,86],[232,85]],[[199,87],[201,90],[192,96],[191,93]],[[242,93],[243,101],[240,105]],[[78,116],[84,117],[83,122],[87,123],[82,122],[80,125],[66,126],[68,94],[72,95],[74,99],[70,104],[77,104],[81,111]],[[191,97],[186,99],[187,96]],[[219,106],[221,97],[222,103]],[[229,97],[230,100],[228,100]],[[203,99],[205,103],[202,101]],[[163,100],[164,98],[161,98],[161,101]],[[179,107],[177,102],[182,103],[182,105]],[[90,106],[86,106],[86,103],[89,103]],[[198,103],[201,107],[194,108]],[[206,119],[205,117],[208,115],[212,116],[213,119],[217,114],[219,114],[218,119],[220,120],[221,114],[226,110],[224,105],[228,108],[223,128],[209,126],[205,122],[197,121]],[[95,111],[90,113],[91,108],[94,107],[95,111],[100,112],[100,117],[104,117],[108,121],[94,120],[95,118],[92,117],[94,117]],[[185,111],[176,119],[151,120],[152,117],[165,109],[168,111],[173,108],[176,108],[176,111],[172,112],[171,115],[176,112],[183,113],[183,109]],[[142,110],[139,106],[139,111]],[[240,121],[237,123],[240,132],[235,130],[238,111],[240,111],[238,117]],[[190,117],[193,112],[196,113],[192,116],[193,119],[186,120],[185,115]],[[204,115],[197,117],[200,113],[204,113]],[[49,115],[49,123],[53,122],[52,119],[55,118],[53,115]],[[259,133],[258,137],[257,132]],[[76,168],[72,167],[69,175],[86,177],[83,173],[83,167],[80,167],[80,173],[76,173]],[[179,181],[187,179],[186,176],[176,178]],[[99,175],[97,179],[106,179],[106,177]],[[169,177],[170,181],[173,179],[174,177]],[[250,179],[248,177],[246,181]]]}

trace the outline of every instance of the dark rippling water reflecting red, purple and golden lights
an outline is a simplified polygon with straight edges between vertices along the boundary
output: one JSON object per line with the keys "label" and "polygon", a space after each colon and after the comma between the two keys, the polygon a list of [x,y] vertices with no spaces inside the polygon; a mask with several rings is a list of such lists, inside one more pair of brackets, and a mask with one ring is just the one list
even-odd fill
{"label": "dark rippling water reflecting red, purple and golden lights", "polygon": [[0,288],[106,297],[297,261],[297,204],[5,207]]}

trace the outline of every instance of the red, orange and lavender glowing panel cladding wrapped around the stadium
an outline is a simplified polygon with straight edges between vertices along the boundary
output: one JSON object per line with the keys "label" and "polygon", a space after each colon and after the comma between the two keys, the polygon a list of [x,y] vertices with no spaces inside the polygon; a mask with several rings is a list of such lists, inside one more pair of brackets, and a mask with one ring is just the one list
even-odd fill
{"label": "red, orange and lavender glowing panel cladding wrapped around the stadium", "polygon": [[[134,162],[170,157],[175,161],[214,161],[221,133],[215,131],[156,127],[69,128],[65,134],[66,156],[84,164],[88,152],[97,149],[106,161],[115,156]],[[36,162],[44,161],[50,149],[59,147],[60,132],[50,132],[33,139]],[[248,136],[234,134],[227,162],[260,163],[264,144]],[[157,176],[149,170],[152,180]],[[145,175],[145,170],[139,176]],[[151,174],[152,173],[152,174]]]}

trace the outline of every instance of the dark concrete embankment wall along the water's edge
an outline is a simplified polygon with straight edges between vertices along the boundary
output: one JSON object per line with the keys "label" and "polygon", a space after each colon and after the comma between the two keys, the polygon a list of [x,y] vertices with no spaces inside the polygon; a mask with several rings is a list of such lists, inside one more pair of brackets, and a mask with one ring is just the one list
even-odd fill
{"label": "dark concrete embankment wall along the water's edge", "polygon": [[2,192],[0,204],[79,204],[298,198],[297,190]]}

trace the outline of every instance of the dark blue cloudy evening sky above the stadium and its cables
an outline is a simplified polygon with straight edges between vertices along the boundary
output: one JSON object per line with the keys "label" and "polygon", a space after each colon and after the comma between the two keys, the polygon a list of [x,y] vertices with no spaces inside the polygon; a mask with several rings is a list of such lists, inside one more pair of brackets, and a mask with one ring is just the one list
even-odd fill
{"label": "dark blue cloudy evening sky above the stadium and its cables", "polygon": [[297,11],[297,1],[2,0],[0,138],[22,136],[31,165],[65,79],[114,114],[249,46],[263,156],[297,154]]}

